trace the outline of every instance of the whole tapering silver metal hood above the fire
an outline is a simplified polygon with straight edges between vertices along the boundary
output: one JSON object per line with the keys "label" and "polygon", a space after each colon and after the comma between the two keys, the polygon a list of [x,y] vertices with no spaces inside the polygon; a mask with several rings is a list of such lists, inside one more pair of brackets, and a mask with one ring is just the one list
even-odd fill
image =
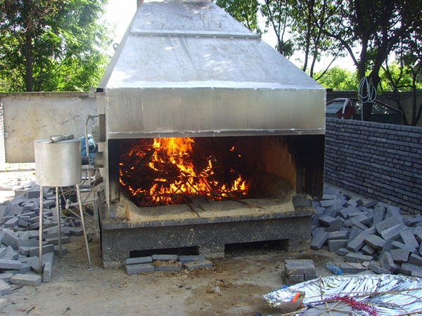
{"label": "whole tapering silver metal hood above the fire", "polygon": [[108,139],[325,132],[325,89],[211,1],[144,1],[98,88]]}

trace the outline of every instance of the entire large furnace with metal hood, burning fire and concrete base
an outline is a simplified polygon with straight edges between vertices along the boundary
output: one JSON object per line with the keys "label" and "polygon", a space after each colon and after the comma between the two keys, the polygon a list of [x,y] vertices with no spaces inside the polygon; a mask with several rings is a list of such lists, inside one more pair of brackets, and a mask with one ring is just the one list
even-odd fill
{"label": "entire large furnace with metal hood, burning fire and concrete base", "polygon": [[308,246],[325,89],[260,34],[212,1],[143,1],[96,96],[104,265]]}

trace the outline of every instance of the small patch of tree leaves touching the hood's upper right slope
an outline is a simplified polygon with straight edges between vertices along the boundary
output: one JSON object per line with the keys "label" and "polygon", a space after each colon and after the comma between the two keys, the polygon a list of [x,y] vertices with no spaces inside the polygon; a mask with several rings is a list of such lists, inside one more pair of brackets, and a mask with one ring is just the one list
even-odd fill
{"label": "small patch of tree leaves touching the hood's upper right slope", "polygon": [[251,31],[258,31],[257,0],[217,0],[215,4]]}

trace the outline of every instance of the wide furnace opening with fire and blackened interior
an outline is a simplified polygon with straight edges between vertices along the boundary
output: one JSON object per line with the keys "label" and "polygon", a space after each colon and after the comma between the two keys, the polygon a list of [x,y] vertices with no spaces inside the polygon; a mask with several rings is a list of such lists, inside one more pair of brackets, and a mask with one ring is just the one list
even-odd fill
{"label": "wide furnace opening with fire and blackened interior", "polygon": [[141,138],[119,143],[119,182],[140,207],[279,197],[295,188],[283,136]]}

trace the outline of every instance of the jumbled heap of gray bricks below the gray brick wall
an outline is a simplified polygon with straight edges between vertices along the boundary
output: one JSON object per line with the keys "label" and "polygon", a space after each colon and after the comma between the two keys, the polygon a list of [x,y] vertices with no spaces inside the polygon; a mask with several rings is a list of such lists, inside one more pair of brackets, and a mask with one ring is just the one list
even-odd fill
{"label": "jumbled heap of gray bricks below the gray brick wall", "polygon": [[[312,249],[328,246],[345,257],[345,273],[422,275],[422,216],[383,202],[351,199],[333,187],[314,199]],[[338,225],[343,223],[343,225]],[[335,230],[334,230],[335,229]]]}

